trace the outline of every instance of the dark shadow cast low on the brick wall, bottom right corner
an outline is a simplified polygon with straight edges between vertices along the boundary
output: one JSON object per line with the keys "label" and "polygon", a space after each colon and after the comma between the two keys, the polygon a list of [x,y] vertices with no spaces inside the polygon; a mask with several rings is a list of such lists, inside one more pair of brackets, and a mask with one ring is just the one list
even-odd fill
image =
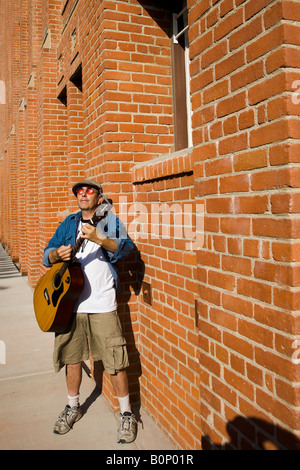
{"label": "dark shadow cast low on the brick wall, bottom right corner", "polygon": [[262,419],[238,416],[226,426],[230,441],[215,444],[202,437],[203,450],[300,450],[300,440],[291,432]]}

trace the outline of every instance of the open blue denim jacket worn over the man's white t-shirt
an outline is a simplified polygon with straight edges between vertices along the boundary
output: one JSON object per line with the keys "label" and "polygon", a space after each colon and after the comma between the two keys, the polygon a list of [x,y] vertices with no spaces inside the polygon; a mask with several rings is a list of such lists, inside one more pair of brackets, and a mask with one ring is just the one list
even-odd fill
{"label": "open blue denim jacket worn over the man's white t-shirt", "polygon": [[[44,250],[43,264],[44,266],[51,267],[52,264],[49,261],[49,254],[51,251],[56,250],[62,245],[74,245],[76,241],[76,234],[78,224],[81,219],[81,212],[71,214],[58,226],[55,234],[48,243],[48,246]],[[129,256],[134,245],[132,240],[129,238],[125,225],[120,219],[112,212],[108,212],[107,216],[98,223],[103,235],[114,240],[118,249],[115,253],[105,250],[102,248],[104,255],[107,258],[110,270],[115,280],[115,285],[118,288],[118,271],[116,262],[119,259],[125,259]]]}

